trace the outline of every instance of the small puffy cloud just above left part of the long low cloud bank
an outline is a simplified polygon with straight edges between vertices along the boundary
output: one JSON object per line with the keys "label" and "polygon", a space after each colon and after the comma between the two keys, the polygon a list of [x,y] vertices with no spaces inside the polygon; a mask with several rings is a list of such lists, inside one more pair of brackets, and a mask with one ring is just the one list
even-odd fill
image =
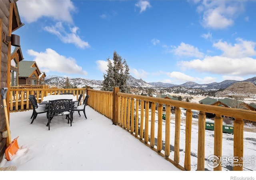
{"label": "small puffy cloud just above left part of the long low cloud bank", "polygon": [[190,45],[185,44],[184,42],[181,42],[178,47],[172,46],[174,54],[178,56],[190,56],[190,57],[197,57],[202,58],[204,57],[204,53],[199,52],[198,48]]}

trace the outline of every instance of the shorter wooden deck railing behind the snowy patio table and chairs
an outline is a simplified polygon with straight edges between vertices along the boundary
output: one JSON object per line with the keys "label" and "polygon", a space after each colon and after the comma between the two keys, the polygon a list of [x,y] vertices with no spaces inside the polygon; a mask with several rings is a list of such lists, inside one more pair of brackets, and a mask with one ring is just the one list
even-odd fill
{"label": "shorter wooden deck railing behind the snowy patio table and chairs", "polygon": [[[30,94],[36,97],[37,102],[41,102],[44,96],[50,94],[61,94],[64,92],[72,93],[74,96],[79,98],[79,95],[83,93],[82,100],[86,96],[86,88],[70,88],[70,89],[41,89],[41,88],[21,88],[11,87],[10,88],[10,111],[13,110],[26,110],[31,109],[32,106],[28,100]],[[81,102],[82,102],[81,100]]]}

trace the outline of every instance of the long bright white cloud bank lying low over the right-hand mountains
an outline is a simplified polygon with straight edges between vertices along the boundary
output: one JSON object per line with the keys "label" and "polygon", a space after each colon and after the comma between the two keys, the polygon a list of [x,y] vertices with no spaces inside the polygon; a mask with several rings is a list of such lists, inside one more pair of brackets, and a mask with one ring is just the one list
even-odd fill
{"label": "long bright white cloud bank lying low over the right-hand mountains", "polygon": [[182,61],[179,66],[182,69],[194,69],[198,72],[242,76],[255,74],[256,59],[208,56],[203,60]]}

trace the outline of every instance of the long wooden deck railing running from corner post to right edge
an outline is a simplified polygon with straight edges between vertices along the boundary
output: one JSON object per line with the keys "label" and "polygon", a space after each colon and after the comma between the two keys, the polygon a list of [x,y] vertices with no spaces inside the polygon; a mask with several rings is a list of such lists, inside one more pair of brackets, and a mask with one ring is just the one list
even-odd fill
{"label": "long wooden deck railing running from corner post to right edge", "polygon": [[[197,148],[197,170],[204,170],[205,164],[205,123],[206,112],[216,114],[214,118],[214,155],[222,156],[222,116],[235,118],[234,120],[234,152],[233,156],[239,161],[234,162],[236,166],[233,170],[243,170],[243,120],[256,122],[256,112],[250,110],[224,108],[177,100],[167,100],[164,98],[154,98],[139,96],[119,92],[114,88],[113,92],[92,90],[87,88],[90,95],[88,105],[113,120],[113,124],[119,125],[140,139],[147,146],[164,156],[168,161],[182,170],[191,170],[191,136],[192,136],[192,110],[198,110],[198,148]],[[149,108],[151,104],[151,108]],[[165,129],[162,123],[162,107],[166,106]],[[175,107],[175,137],[174,137],[174,157],[170,158],[170,117],[171,106]],[[158,119],[155,119],[156,108]],[[186,109],[185,139],[180,139],[181,108]],[[150,111],[151,110],[151,111]],[[139,112],[140,111],[140,112]],[[151,112],[151,117],[149,115]],[[149,123],[150,119],[150,123]],[[140,122],[140,126],[139,126]],[[157,122],[157,142],[155,143],[155,122]],[[143,130],[140,130],[143,127]],[[150,133],[149,133],[150,131]],[[164,137],[162,137],[162,133]],[[164,151],[162,141],[165,141]],[[180,163],[180,142],[185,141],[184,164]],[[222,166],[215,167],[214,170],[222,170]]]}

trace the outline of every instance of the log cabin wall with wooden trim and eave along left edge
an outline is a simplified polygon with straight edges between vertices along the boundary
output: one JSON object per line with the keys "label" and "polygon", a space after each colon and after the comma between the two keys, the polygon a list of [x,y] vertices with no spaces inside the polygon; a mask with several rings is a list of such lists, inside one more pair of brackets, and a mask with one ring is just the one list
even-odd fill
{"label": "log cabin wall with wooden trim and eave along left edge", "polygon": [[[16,2],[17,0],[0,1],[0,88],[8,88],[6,97],[10,97],[10,72],[11,70],[17,70],[16,65],[14,68],[11,68],[11,55],[17,58],[18,54],[19,57],[16,59],[16,63],[22,59],[21,51],[18,49],[16,51],[17,54],[11,54],[12,46],[20,46],[20,36],[13,34],[13,32],[24,25],[20,20]],[[2,96],[0,96],[1,107],[3,104],[4,100],[2,99]],[[7,113],[5,113],[4,109],[5,108],[0,108],[0,162],[2,161],[6,147],[10,144],[8,138],[3,137],[4,132],[6,132],[7,118],[5,117],[8,117],[8,120],[10,117],[10,103],[7,103]]]}

